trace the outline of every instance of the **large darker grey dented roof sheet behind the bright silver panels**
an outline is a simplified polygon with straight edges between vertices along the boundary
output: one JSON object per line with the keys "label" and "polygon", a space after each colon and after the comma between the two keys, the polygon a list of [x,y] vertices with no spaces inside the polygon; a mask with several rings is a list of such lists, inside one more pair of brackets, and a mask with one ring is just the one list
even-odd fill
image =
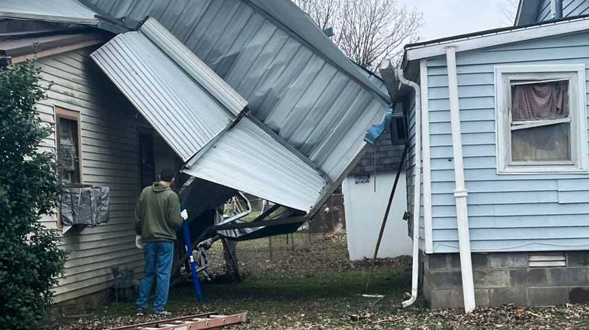
{"label": "large darker grey dented roof sheet behind the bright silver panels", "polygon": [[318,28],[290,18],[301,15],[290,0],[80,1],[115,20],[157,19],[247,99],[257,119],[321,168],[328,190],[389,108]]}

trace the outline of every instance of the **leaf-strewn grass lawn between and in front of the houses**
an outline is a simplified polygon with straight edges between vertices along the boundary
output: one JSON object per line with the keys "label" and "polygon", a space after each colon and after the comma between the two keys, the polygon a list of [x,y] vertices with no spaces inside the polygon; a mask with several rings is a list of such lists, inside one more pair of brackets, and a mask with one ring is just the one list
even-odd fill
{"label": "leaf-strewn grass lawn between and in front of the houses", "polygon": [[[211,251],[211,270],[222,272],[220,248]],[[518,309],[505,306],[479,309],[463,315],[459,310],[428,311],[420,299],[402,309],[404,292],[411,287],[410,259],[379,261],[369,292],[365,292],[366,262],[347,260],[345,237],[295,235],[295,248],[286,237],[273,239],[273,260],[268,239],[238,244],[244,280],[238,284],[203,283],[204,303],[192,285],[172,288],[168,310],[174,315],[216,311],[248,312],[249,322],[238,329],[589,329],[589,306],[553,309]],[[365,298],[362,294],[382,294]],[[137,318],[132,303],[111,304],[86,311],[82,318],[47,320],[47,329],[108,329],[146,322]],[[356,320],[360,316],[360,320]]]}

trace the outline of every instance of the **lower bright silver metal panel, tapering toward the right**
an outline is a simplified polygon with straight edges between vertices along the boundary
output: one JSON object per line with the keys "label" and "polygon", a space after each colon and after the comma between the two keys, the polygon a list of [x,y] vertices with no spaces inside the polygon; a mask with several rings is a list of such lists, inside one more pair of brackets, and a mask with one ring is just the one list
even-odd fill
{"label": "lower bright silver metal panel, tapering toward the right", "polygon": [[314,207],[326,184],[319,172],[248,117],[183,172],[303,211]]}

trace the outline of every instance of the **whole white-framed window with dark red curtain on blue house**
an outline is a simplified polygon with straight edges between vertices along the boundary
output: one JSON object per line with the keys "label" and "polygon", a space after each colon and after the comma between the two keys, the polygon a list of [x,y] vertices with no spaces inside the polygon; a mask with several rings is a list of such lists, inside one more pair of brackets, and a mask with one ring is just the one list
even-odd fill
{"label": "whole white-framed window with dark red curtain on blue house", "polygon": [[498,173],[586,172],[584,65],[496,67]]}

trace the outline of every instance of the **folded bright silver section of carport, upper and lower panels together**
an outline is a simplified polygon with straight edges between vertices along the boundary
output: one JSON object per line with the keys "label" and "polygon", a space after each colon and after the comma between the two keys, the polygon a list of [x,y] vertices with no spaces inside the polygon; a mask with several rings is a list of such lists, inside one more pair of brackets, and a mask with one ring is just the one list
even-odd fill
{"label": "folded bright silver section of carport, upper and lower panels together", "polygon": [[183,172],[310,211],[325,191],[321,172],[263,123],[235,116],[246,101],[174,39],[148,19],[91,56],[187,162]]}

